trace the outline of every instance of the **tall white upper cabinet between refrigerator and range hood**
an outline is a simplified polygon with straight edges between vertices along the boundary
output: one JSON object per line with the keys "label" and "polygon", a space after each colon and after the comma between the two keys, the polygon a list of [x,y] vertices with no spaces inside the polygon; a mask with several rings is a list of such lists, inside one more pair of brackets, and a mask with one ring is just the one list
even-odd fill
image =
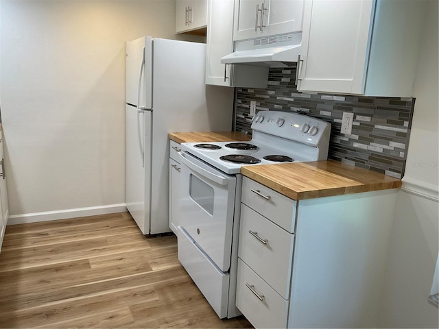
{"label": "tall white upper cabinet between refrigerator and range hood", "polygon": [[206,84],[227,87],[266,88],[268,68],[222,64],[233,52],[234,0],[209,0],[206,35]]}

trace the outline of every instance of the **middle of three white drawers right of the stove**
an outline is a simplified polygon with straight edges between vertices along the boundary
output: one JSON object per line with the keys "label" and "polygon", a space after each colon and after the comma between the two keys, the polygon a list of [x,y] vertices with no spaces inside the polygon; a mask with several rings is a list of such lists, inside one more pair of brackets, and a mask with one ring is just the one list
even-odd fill
{"label": "middle of three white drawers right of the stove", "polygon": [[242,205],[238,256],[285,300],[289,299],[293,242],[294,234]]}

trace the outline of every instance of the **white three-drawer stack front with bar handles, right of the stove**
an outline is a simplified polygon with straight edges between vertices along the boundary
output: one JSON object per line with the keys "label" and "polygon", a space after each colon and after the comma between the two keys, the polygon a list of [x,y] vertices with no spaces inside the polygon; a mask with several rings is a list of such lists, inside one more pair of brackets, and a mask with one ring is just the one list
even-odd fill
{"label": "white three-drawer stack front with bar handles, right of the stove", "polygon": [[246,177],[237,307],[257,328],[286,328],[297,202]]}

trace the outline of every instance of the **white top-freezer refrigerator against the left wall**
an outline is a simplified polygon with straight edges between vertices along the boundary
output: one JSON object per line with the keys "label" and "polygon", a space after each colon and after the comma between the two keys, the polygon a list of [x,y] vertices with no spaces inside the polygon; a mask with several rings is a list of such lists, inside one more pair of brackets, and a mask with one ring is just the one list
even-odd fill
{"label": "white top-freezer refrigerator against the left wall", "polygon": [[233,88],[206,86],[206,45],[126,43],[126,207],[143,234],[170,232],[168,132],[230,131]]}

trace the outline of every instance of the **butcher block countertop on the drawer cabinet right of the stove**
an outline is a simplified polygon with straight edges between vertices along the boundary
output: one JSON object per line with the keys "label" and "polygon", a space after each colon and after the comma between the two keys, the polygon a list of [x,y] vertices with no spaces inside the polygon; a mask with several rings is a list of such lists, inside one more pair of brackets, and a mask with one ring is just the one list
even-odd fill
{"label": "butcher block countertop on the drawer cabinet right of the stove", "polygon": [[244,166],[241,173],[295,200],[401,187],[397,178],[335,160]]}

